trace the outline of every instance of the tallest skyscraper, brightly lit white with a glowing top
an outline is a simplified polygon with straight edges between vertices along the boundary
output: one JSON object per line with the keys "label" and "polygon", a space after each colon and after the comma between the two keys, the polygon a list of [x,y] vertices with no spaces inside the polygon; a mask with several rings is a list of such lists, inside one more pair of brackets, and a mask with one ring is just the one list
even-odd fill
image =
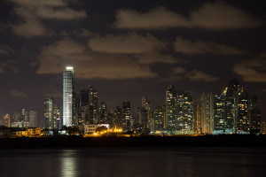
{"label": "tallest skyscraper, brightly lit white with a glowing top", "polygon": [[73,126],[74,68],[66,66],[63,73],[63,126]]}

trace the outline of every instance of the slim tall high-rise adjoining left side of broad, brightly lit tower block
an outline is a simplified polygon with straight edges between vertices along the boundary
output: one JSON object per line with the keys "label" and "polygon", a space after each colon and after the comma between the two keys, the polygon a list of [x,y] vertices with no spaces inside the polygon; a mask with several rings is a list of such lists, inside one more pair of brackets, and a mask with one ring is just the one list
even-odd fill
{"label": "slim tall high-rise adjoining left side of broad, brightly lit tower block", "polygon": [[169,86],[166,91],[166,119],[169,134],[176,134],[176,89]]}

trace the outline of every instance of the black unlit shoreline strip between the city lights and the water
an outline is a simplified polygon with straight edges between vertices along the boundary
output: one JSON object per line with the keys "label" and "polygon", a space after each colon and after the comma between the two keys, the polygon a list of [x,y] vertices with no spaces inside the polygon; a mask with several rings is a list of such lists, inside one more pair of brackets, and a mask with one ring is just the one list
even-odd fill
{"label": "black unlit shoreline strip between the city lights and the water", "polygon": [[266,135],[205,136],[61,136],[0,138],[0,149],[90,148],[90,147],[262,147]]}

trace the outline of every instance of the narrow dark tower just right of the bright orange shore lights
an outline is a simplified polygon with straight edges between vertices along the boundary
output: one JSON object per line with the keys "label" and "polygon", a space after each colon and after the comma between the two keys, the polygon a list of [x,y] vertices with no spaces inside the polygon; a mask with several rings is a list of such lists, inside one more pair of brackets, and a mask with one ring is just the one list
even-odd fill
{"label": "narrow dark tower just right of the bright orange shore lights", "polygon": [[123,131],[131,131],[133,120],[131,119],[130,102],[126,100],[122,105],[122,129]]}

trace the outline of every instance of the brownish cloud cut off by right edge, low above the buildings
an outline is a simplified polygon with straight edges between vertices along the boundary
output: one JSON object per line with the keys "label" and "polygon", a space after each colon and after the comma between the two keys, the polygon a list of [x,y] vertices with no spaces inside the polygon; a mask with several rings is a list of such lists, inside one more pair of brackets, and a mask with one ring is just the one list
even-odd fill
{"label": "brownish cloud cut off by right edge, low above the buildings", "polygon": [[254,58],[236,64],[234,73],[239,74],[243,81],[266,82],[266,59]]}

